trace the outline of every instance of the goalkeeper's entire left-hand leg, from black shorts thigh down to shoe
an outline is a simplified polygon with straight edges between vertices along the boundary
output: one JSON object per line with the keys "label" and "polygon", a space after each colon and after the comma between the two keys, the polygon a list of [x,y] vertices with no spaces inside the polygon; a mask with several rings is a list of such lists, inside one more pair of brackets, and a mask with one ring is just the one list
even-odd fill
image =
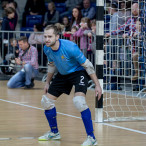
{"label": "goalkeeper's entire left-hand leg, from black shorts thigh down to shoe", "polygon": [[55,107],[56,99],[63,93],[65,88],[63,77],[59,74],[55,76],[48,89],[48,94],[43,95],[41,104],[45,110],[45,116],[48,120],[51,131],[47,132],[43,136],[39,137],[38,140],[49,140],[49,139],[60,139],[60,134],[57,127],[57,113]]}

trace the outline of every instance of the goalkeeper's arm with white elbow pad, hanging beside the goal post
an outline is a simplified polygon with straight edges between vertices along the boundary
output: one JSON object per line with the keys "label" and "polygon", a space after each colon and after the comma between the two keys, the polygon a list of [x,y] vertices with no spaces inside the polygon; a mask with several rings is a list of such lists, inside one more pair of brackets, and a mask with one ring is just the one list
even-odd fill
{"label": "goalkeeper's arm with white elbow pad, hanging beside the goal post", "polygon": [[102,89],[100,87],[98,78],[95,74],[95,70],[94,70],[94,66],[93,64],[86,59],[85,63],[81,64],[85,70],[87,71],[88,75],[90,76],[90,78],[93,80],[93,82],[95,83],[95,95],[97,96],[98,94],[98,100],[101,98],[102,95]]}

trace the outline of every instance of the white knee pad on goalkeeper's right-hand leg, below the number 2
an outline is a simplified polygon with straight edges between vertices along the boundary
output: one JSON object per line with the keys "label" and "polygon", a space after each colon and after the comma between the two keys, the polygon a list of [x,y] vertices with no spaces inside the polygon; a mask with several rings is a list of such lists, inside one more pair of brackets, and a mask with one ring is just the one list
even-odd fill
{"label": "white knee pad on goalkeeper's right-hand leg, below the number 2", "polygon": [[82,112],[88,108],[86,104],[86,100],[84,96],[75,96],[73,98],[74,106],[77,108],[78,111]]}

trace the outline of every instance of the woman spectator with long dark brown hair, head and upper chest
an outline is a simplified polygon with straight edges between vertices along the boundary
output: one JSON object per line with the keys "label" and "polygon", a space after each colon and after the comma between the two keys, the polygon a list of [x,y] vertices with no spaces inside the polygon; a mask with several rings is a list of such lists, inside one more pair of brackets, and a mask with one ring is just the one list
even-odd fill
{"label": "woman spectator with long dark brown hair, head and upper chest", "polygon": [[79,28],[81,22],[82,14],[79,8],[73,8],[72,10],[72,18],[71,18],[71,28],[73,26],[77,26]]}

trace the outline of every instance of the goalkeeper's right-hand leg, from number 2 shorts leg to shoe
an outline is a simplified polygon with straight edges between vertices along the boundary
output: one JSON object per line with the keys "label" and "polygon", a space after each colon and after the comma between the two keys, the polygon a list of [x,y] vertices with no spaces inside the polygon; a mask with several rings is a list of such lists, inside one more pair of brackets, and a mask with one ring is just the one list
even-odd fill
{"label": "goalkeeper's right-hand leg, from number 2 shorts leg to shoe", "polygon": [[86,72],[77,72],[72,78],[75,85],[75,95],[73,103],[77,110],[81,113],[81,117],[86,129],[87,139],[82,145],[97,145],[94,136],[93,123],[91,118],[90,109],[86,103],[85,95],[88,87],[88,77]]}

